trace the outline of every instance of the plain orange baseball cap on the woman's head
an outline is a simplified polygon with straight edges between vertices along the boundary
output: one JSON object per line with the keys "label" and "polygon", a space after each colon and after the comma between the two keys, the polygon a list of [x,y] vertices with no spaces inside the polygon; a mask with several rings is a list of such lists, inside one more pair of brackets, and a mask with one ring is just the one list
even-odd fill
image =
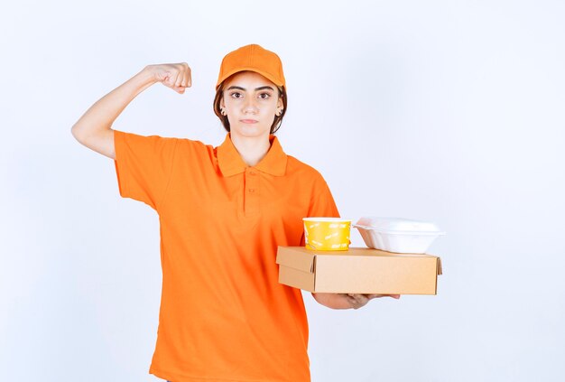
{"label": "plain orange baseball cap on the woman's head", "polygon": [[286,87],[279,56],[257,44],[251,44],[227,53],[219,68],[216,89],[218,90],[219,85],[232,74],[245,70],[255,71],[276,86]]}

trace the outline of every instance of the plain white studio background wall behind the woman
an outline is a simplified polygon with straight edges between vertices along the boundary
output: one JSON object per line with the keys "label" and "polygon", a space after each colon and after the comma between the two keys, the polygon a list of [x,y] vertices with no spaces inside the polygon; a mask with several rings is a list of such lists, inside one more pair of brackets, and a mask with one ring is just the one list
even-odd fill
{"label": "plain white studio background wall behind the woman", "polygon": [[557,0],[6,2],[0,379],[157,380],[157,215],[70,126],[144,65],[187,61],[192,89],[147,89],[115,128],[217,145],[219,62],[255,42],[284,63],[282,145],[342,216],[448,232],[437,296],[305,296],[313,381],[563,380],[563,20]]}

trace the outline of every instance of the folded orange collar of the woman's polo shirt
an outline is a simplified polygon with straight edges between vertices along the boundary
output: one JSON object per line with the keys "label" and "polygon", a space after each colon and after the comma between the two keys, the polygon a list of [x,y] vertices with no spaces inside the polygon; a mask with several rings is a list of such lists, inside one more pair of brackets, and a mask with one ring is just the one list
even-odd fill
{"label": "folded orange collar of the woman's polo shirt", "polygon": [[[282,146],[276,136],[269,135],[269,142],[271,142],[271,148],[255,165],[255,168],[274,176],[282,176],[286,172],[287,156],[282,151]],[[245,172],[245,169],[249,167],[237,153],[236,146],[232,143],[229,134],[226,135],[224,143],[218,146],[218,165],[224,176]]]}

